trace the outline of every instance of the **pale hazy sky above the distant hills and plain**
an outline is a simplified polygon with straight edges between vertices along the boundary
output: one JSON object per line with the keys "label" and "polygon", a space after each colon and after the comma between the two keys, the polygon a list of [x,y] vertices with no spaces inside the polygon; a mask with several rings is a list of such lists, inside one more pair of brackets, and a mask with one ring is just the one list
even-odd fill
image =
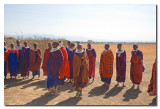
{"label": "pale hazy sky above the distant hills and plain", "polygon": [[4,33],[69,40],[156,41],[156,5],[4,6]]}

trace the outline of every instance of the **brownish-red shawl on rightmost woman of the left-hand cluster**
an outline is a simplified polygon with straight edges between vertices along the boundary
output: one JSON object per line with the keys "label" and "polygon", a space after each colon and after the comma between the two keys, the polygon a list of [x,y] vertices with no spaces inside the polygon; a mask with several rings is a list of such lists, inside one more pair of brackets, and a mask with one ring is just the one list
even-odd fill
{"label": "brownish-red shawl on rightmost woman of the left-hand cluster", "polygon": [[37,62],[36,61],[36,51],[31,49],[30,50],[30,58],[29,58],[29,62],[30,62],[30,71],[34,72],[34,71],[40,71],[40,66],[41,66],[41,51],[39,48],[37,48],[37,54],[38,54],[38,58],[37,58]]}

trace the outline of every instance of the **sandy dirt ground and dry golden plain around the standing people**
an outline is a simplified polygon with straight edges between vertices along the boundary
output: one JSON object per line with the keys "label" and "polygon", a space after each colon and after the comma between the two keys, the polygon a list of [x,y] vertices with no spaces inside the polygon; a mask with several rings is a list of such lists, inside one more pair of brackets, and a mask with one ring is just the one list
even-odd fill
{"label": "sandy dirt ground and dry golden plain around the standing people", "polygon": [[[86,47],[86,44],[83,44]],[[156,58],[156,44],[139,44],[139,49],[143,51],[145,72],[140,85],[140,90],[132,88],[130,81],[130,57],[132,44],[123,44],[127,53],[126,87],[115,87],[116,66],[114,57],[114,73],[111,85],[108,88],[103,86],[99,76],[99,59],[104,49],[104,44],[92,44],[97,52],[96,76],[93,83],[89,83],[83,89],[82,97],[75,97],[72,85],[65,83],[61,86],[60,93],[50,94],[46,88],[46,77],[41,70],[40,80],[18,78],[4,80],[4,104],[5,105],[156,105],[157,98],[149,96],[146,92],[151,78],[151,70]],[[114,56],[116,53],[116,43],[112,43]]]}

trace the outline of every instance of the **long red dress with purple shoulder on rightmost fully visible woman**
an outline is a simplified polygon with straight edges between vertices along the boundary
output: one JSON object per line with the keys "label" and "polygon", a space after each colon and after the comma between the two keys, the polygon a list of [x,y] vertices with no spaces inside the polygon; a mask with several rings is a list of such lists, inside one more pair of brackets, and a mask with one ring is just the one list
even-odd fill
{"label": "long red dress with purple shoulder on rightmost fully visible woman", "polygon": [[134,84],[142,82],[143,66],[143,53],[140,50],[133,50],[131,56],[130,79]]}

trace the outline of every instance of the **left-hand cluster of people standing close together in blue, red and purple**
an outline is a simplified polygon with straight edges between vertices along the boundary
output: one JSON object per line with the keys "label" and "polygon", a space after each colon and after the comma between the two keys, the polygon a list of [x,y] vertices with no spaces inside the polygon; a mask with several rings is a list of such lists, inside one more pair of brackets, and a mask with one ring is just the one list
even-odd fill
{"label": "left-hand cluster of people standing close together in blue, red and purple", "polygon": [[[4,42],[4,46],[6,42]],[[29,77],[29,71],[32,72],[33,78],[35,75],[40,77],[41,66],[41,51],[37,48],[37,44],[33,44],[33,49],[28,47],[28,43],[24,42],[24,46],[20,44],[20,41],[16,41],[10,44],[7,49],[4,47],[4,76],[6,79],[7,73],[10,73],[10,77],[17,76]]]}

